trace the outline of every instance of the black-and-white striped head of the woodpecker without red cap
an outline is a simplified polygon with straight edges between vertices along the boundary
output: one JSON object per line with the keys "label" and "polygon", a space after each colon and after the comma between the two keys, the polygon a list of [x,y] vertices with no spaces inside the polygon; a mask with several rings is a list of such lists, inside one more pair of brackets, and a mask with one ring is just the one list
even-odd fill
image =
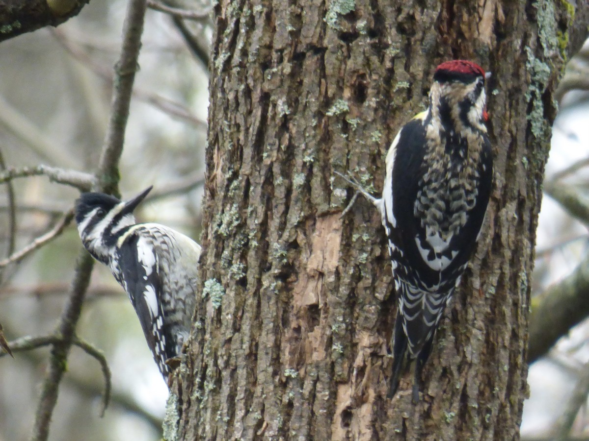
{"label": "black-and-white striped head of the woodpecker without red cap", "polygon": [[95,259],[108,263],[111,249],[123,228],[134,225],[133,211],[151,186],[129,201],[105,193],[82,193],[75,204],[75,220],[85,248]]}

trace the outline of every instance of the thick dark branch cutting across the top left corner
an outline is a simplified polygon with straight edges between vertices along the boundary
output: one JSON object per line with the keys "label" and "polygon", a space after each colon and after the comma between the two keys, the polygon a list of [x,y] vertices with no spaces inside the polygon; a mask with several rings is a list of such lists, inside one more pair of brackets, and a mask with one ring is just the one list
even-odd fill
{"label": "thick dark branch cutting across the top left corner", "polygon": [[0,41],[36,31],[45,26],[57,26],[72,18],[90,0],[26,0],[0,1]]}

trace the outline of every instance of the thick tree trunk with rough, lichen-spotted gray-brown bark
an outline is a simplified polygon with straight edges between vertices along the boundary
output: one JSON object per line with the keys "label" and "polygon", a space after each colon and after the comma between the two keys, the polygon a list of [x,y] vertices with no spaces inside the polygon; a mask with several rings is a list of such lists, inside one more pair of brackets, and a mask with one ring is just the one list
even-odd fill
{"label": "thick tree trunk with rough, lichen-spotted gray-brown bark", "polygon": [[[530,274],[551,99],[587,5],[560,0],[220,0],[211,61],[203,295],[168,439],[511,440],[527,396]],[[578,34],[581,34],[580,36]],[[379,213],[396,131],[435,66],[488,85],[495,180],[478,250],[426,365],[386,399],[395,313]]]}

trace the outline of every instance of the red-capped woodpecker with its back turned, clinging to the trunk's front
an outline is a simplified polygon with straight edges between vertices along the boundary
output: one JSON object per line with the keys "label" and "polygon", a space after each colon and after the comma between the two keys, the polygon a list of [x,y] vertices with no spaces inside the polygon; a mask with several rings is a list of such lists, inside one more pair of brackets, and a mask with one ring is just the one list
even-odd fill
{"label": "red-capped woodpecker with its back turned, clinging to the trunk's front", "polygon": [[436,68],[426,111],[406,123],[386,155],[382,197],[351,182],[380,211],[398,312],[393,336],[395,395],[406,356],[415,359],[413,401],[448,301],[474,252],[491,192],[485,71],[471,61]]}

